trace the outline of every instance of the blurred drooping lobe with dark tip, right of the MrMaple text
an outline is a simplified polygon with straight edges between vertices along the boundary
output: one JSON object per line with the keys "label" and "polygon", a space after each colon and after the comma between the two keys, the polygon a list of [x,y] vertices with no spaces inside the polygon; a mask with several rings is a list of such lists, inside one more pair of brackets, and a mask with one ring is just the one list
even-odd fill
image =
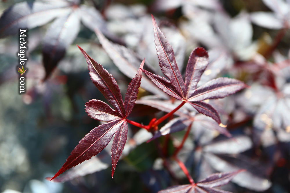
{"label": "blurred drooping lobe with dark tip, right of the MrMaple text", "polygon": [[57,18],[49,27],[43,40],[42,56],[48,78],[58,62],[65,56],[66,48],[79,32],[80,21],[77,11]]}

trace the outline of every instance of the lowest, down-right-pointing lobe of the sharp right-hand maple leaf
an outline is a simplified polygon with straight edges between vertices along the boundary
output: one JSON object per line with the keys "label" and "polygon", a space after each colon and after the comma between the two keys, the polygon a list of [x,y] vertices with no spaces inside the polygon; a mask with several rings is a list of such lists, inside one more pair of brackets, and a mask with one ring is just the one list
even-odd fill
{"label": "lowest, down-right-pointing lobe of the sharp right-hand maple leaf", "polygon": [[220,115],[210,104],[205,102],[189,102],[199,113],[202,113],[206,116],[213,118],[218,124],[221,123]]}

